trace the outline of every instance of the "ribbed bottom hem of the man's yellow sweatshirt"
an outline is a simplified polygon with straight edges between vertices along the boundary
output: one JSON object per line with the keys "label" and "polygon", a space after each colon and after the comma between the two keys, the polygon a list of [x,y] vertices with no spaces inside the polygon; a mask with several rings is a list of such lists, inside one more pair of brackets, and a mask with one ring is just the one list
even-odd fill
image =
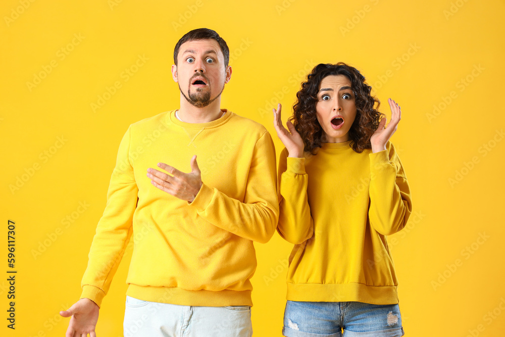
{"label": "ribbed bottom hem of the man's yellow sweatshirt", "polygon": [[129,284],[126,295],[139,300],[188,306],[224,307],[252,306],[251,291],[184,290],[178,287]]}

